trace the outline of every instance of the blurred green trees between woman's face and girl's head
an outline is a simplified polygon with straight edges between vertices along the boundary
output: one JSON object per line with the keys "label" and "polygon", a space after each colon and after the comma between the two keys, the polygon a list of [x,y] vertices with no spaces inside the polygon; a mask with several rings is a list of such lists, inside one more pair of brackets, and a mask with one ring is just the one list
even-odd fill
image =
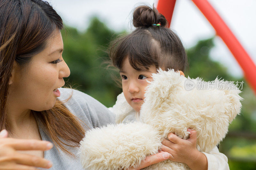
{"label": "blurred green trees between woman's face and girl's head", "polygon": [[80,33],[75,28],[66,27],[62,35],[63,58],[70,69],[70,76],[65,81],[106,106],[113,106],[121,89],[116,87],[110,70],[102,63],[108,58],[103,50],[107,49],[115,32],[108,29],[99,19],[92,18],[85,32]]}

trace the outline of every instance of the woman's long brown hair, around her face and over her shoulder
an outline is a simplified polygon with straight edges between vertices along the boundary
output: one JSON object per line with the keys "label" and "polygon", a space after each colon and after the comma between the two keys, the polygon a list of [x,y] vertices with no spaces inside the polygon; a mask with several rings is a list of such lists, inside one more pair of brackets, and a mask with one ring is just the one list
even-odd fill
{"label": "woman's long brown hair, around her face and over her shoulder", "polygon": [[[0,130],[12,132],[6,113],[6,100],[14,62],[22,69],[28,69],[31,58],[44,50],[46,40],[54,30],[62,28],[61,17],[45,1],[0,1]],[[64,145],[79,145],[84,136],[79,120],[58,100],[52,109],[36,114],[53,143],[73,155]],[[60,138],[67,143],[61,142]]]}

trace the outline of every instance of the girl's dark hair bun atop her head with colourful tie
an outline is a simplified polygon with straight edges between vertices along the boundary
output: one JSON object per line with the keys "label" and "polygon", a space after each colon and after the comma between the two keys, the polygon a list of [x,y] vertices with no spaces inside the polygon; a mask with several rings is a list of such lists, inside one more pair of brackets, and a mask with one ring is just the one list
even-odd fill
{"label": "girl's dark hair bun atop her head with colourful tie", "polygon": [[151,27],[152,24],[161,24],[161,27],[168,25],[164,15],[160,14],[155,7],[142,5],[138,6],[133,12],[134,27]]}

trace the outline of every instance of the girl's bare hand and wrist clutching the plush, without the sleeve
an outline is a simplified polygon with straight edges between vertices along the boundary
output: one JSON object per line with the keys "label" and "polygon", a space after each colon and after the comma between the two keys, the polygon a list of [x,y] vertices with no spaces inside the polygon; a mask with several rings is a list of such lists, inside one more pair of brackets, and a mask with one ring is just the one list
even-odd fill
{"label": "girl's bare hand and wrist clutching the plush, without the sleeve", "polygon": [[192,170],[208,168],[206,156],[196,149],[196,130],[191,130],[187,140],[181,139],[173,133],[168,134],[168,140],[164,139],[162,151],[170,153],[170,160],[182,162]]}

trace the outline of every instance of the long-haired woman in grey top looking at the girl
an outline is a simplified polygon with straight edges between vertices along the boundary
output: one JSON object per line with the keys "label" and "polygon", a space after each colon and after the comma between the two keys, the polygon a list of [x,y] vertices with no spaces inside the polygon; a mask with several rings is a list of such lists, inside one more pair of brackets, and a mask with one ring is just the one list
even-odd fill
{"label": "long-haired woman in grey top looking at the girl", "polygon": [[[60,88],[70,74],[62,19],[42,0],[1,0],[0,18],[0,169],[82,169],[84,132],[115,117],[92,97]],[[167,158],[149,156],[137,169]]]}

